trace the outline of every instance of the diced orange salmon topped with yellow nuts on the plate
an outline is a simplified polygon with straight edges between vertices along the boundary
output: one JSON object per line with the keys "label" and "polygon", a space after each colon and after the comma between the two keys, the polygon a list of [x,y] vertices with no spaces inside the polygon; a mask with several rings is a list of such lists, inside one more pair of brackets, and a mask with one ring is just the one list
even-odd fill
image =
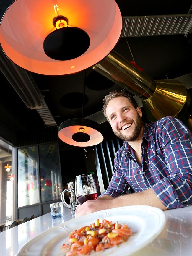
{"label": "diced orange salmon topped with yellow nuts on the plate", "polygon": [[90,255],[91,252],[99,252],[126,242],[130,236],[133,236],[133,232],[127,225],[105,219],[100,223],[97,219],[90,226],[71,232],[61,249],[66,256]]}

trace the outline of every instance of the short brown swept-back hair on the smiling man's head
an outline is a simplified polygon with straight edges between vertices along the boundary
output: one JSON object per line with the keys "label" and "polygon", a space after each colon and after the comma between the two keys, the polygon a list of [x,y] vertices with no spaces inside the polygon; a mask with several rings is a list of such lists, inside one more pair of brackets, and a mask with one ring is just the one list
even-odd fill
{"label": "short brown swept-back hair on the smiling man's head", "polygon": [[134,106],[135,109],[138,107],[138,104],[137,104],[136,100],[129,93],[125,93],[122,90],[115,90],[113,92],[110,92],[103,99],[103,103],[104,104],[103,104],[103,108],[102,108],[103,114],[104,114],[105,118],[108,120],[108,122],[109,122],[109,119],[108,119],[108,117],[106,115],[107,105],[108,105],[110,100],[112,100],[114,98],[117,98],[117,97],[125,97],[125,98],[127,98],[131,102],[131,104]]}

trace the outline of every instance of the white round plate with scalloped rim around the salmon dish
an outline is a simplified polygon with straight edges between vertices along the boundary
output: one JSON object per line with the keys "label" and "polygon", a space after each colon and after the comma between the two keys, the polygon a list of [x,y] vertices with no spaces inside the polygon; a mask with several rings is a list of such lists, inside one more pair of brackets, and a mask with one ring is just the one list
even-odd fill
{"label": "white round plate with scalloped rim around the salmon dish", "polygon": [[112,247],[101,252],[94,252],[91,256],[128,256],[145,247],[155,239],[165,226],[165,214],[162,210],[150,206],[124,206],[109,210],[102,210],[81,216],[65,223],[48,229],[27,242],[16,256],[63,256],[60,249],[66,243],[70,232],[82,226],[95,223],[96,219],[102,218],[127,224],[133,231],[127,242],[118,247]]}

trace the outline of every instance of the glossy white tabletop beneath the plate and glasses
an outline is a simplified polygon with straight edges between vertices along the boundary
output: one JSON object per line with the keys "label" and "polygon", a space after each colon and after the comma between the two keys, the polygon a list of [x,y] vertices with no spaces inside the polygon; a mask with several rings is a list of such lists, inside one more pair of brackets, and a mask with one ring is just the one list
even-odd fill
{"label": "glossy white tabletop beneath the plate and glasses", "polygon": [[[192,205],[164,211],[166,226],[161,234],[133,256],[191,256]],[[64,207],[63,218],[52,220],[51,213],[27,221],[0,233],[0,255],[14,256],[30,239],[43,231],[71,219],[71,211]],[[35,256],[35,255],[34,255]]]}

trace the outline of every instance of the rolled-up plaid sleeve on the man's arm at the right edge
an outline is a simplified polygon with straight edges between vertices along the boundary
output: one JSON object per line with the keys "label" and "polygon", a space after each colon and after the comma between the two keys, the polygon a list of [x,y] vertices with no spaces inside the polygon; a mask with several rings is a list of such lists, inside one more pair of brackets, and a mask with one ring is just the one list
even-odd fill
{"label": "rolled-up plaid sleeve on the man's arm at the right edge", "polygon": [[157,139],[170,175],[159,180],[152,189],[168,209],[188,206],[192,204],[191,132],[173,117],[162,120],[158,127]]}

